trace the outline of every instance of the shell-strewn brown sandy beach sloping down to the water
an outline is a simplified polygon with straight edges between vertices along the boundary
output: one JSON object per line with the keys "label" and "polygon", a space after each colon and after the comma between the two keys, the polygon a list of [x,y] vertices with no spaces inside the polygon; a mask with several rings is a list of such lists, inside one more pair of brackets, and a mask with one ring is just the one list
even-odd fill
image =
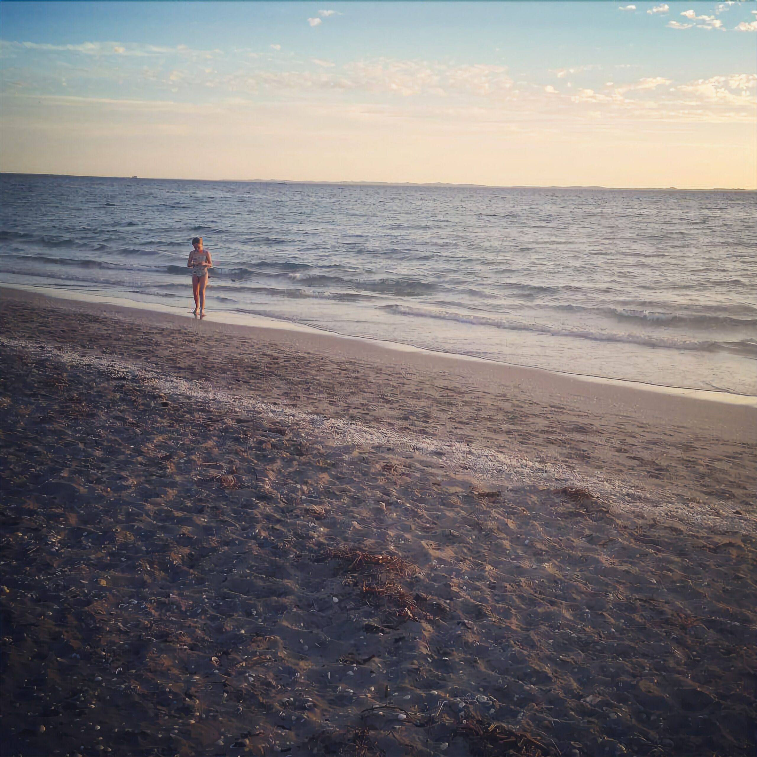
{"label": "shell-strewn brown sandy beach sloping down to the water", "polygon": [[755,754],[754,407],[9,288],[0,345],[2,755]]}

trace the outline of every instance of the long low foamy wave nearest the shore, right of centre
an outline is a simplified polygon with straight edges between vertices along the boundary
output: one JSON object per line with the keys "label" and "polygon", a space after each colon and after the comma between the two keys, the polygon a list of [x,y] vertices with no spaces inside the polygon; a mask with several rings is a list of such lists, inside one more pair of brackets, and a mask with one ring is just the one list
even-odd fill
{"label": "long low foamy wave nearest the shore, right of centre", "polygon": [[595,332],[588,329],[556,329],[544,326],[540,323],[526,323],[490,316],[475,316],[465,313],[451,313],[446,310],[419,310],[406,305],[382,305],[382,310],[400,316],[413,316],[417,318],[435,318],[458,323],[469,323],[472,326],[491,326],[494,329],[508,331],[532,332],[548,336],[562,336],[577,339],[590,339],[591,341],[611,341],[626,344],[639,344],[642,347],[662,347],[671,350],[712,350],[718,343],[712,340],[691,341],[665,337],[651,337],[637,334],[618,334],[612,332]]}

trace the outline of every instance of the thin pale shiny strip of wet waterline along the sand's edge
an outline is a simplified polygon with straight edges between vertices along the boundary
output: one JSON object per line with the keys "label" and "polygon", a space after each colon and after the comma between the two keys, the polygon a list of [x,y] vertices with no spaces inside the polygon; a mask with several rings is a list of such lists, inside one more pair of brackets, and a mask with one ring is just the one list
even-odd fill
{"label": "thin pale shiny strip of wet waterline along the sand's edge", "polygon": [[[191,310],[183,307],[172,307],[160,303],[145,302],[132,300],[130,298],[114,297],[111,294],[92,294],[91,291],[81,291],[73,288],[65,290],[55,289],[45,286],[34,285],[16,285],[0,282],[0,291],[13,290],[24,291],[30,294],[41,294],[48,298],[55,298],[80,303],[103,304],[114,307],[123,307],[131,310],[148,311],[150,313],[161,313],[169,316],[177,316],[195,320],[196,316]],[[338,340],[354,341],[361,344],[372,344],[383,347],[387,350],[404,353],[425,354],[428,356],[445,357],[453,360],[478,363],[490,366],[506,366],[510,368],[522,369],[526,371],[539,372],[540,374],[562,376],[573,378],[581,382],[606,385],[618,388],[636,389],[646,391],[652,394],[667,394],[674,397],[684,397],[699,401],[717,402],[740,407],[757,408],[757,396],[751,394],[737,394],[727,391],[712,391],[706,389],[696,389],[687,387],[676,387],[651,382],[639,382],[630,379],[609,378],[598,375],[587,375],[582,373],[573,373],[568,371],[558,371],[553,369],[542,368],[540,366],[530,366],[522,363],[510,363],[506,360],[494,360],[487,357],[478,357],[464,353],[456,353],[445,350],[431,350],[428,347],[419,347],[415,344],[406,344],[388,339],[372,338],[367,336],[341,334],[340,332],[329,329],[319,328],[317,326],[303,325],[301,323],[288,321],[286,319],[276,319],[271,316],[263,316],[252,313],[235,313],[231,310],[213,310],[206,313],[204,320],[220,325],[241,326],[254,329],[272,329],[279,332],[295,332],[308,335],[327,336]]]}

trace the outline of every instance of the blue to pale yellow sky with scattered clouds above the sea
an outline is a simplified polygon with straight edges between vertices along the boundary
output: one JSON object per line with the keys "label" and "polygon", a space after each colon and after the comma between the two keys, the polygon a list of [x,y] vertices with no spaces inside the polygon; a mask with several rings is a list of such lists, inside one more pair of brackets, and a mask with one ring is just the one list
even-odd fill
{"label": "blue to pale yellow sky with scattered clouds above the sea", "polygon": [[757,188],[757,5],[0,2],[0,171]]}

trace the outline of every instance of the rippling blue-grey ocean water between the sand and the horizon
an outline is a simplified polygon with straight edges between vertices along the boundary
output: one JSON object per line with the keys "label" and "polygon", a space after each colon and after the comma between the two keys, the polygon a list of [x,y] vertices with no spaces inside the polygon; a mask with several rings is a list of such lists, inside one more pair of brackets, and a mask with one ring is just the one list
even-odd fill
{"label": "rippling blue-grey ocean water between the sand and the horizon", "polygon": [[0,174],[0,283],[757,395],[757,193]]}

